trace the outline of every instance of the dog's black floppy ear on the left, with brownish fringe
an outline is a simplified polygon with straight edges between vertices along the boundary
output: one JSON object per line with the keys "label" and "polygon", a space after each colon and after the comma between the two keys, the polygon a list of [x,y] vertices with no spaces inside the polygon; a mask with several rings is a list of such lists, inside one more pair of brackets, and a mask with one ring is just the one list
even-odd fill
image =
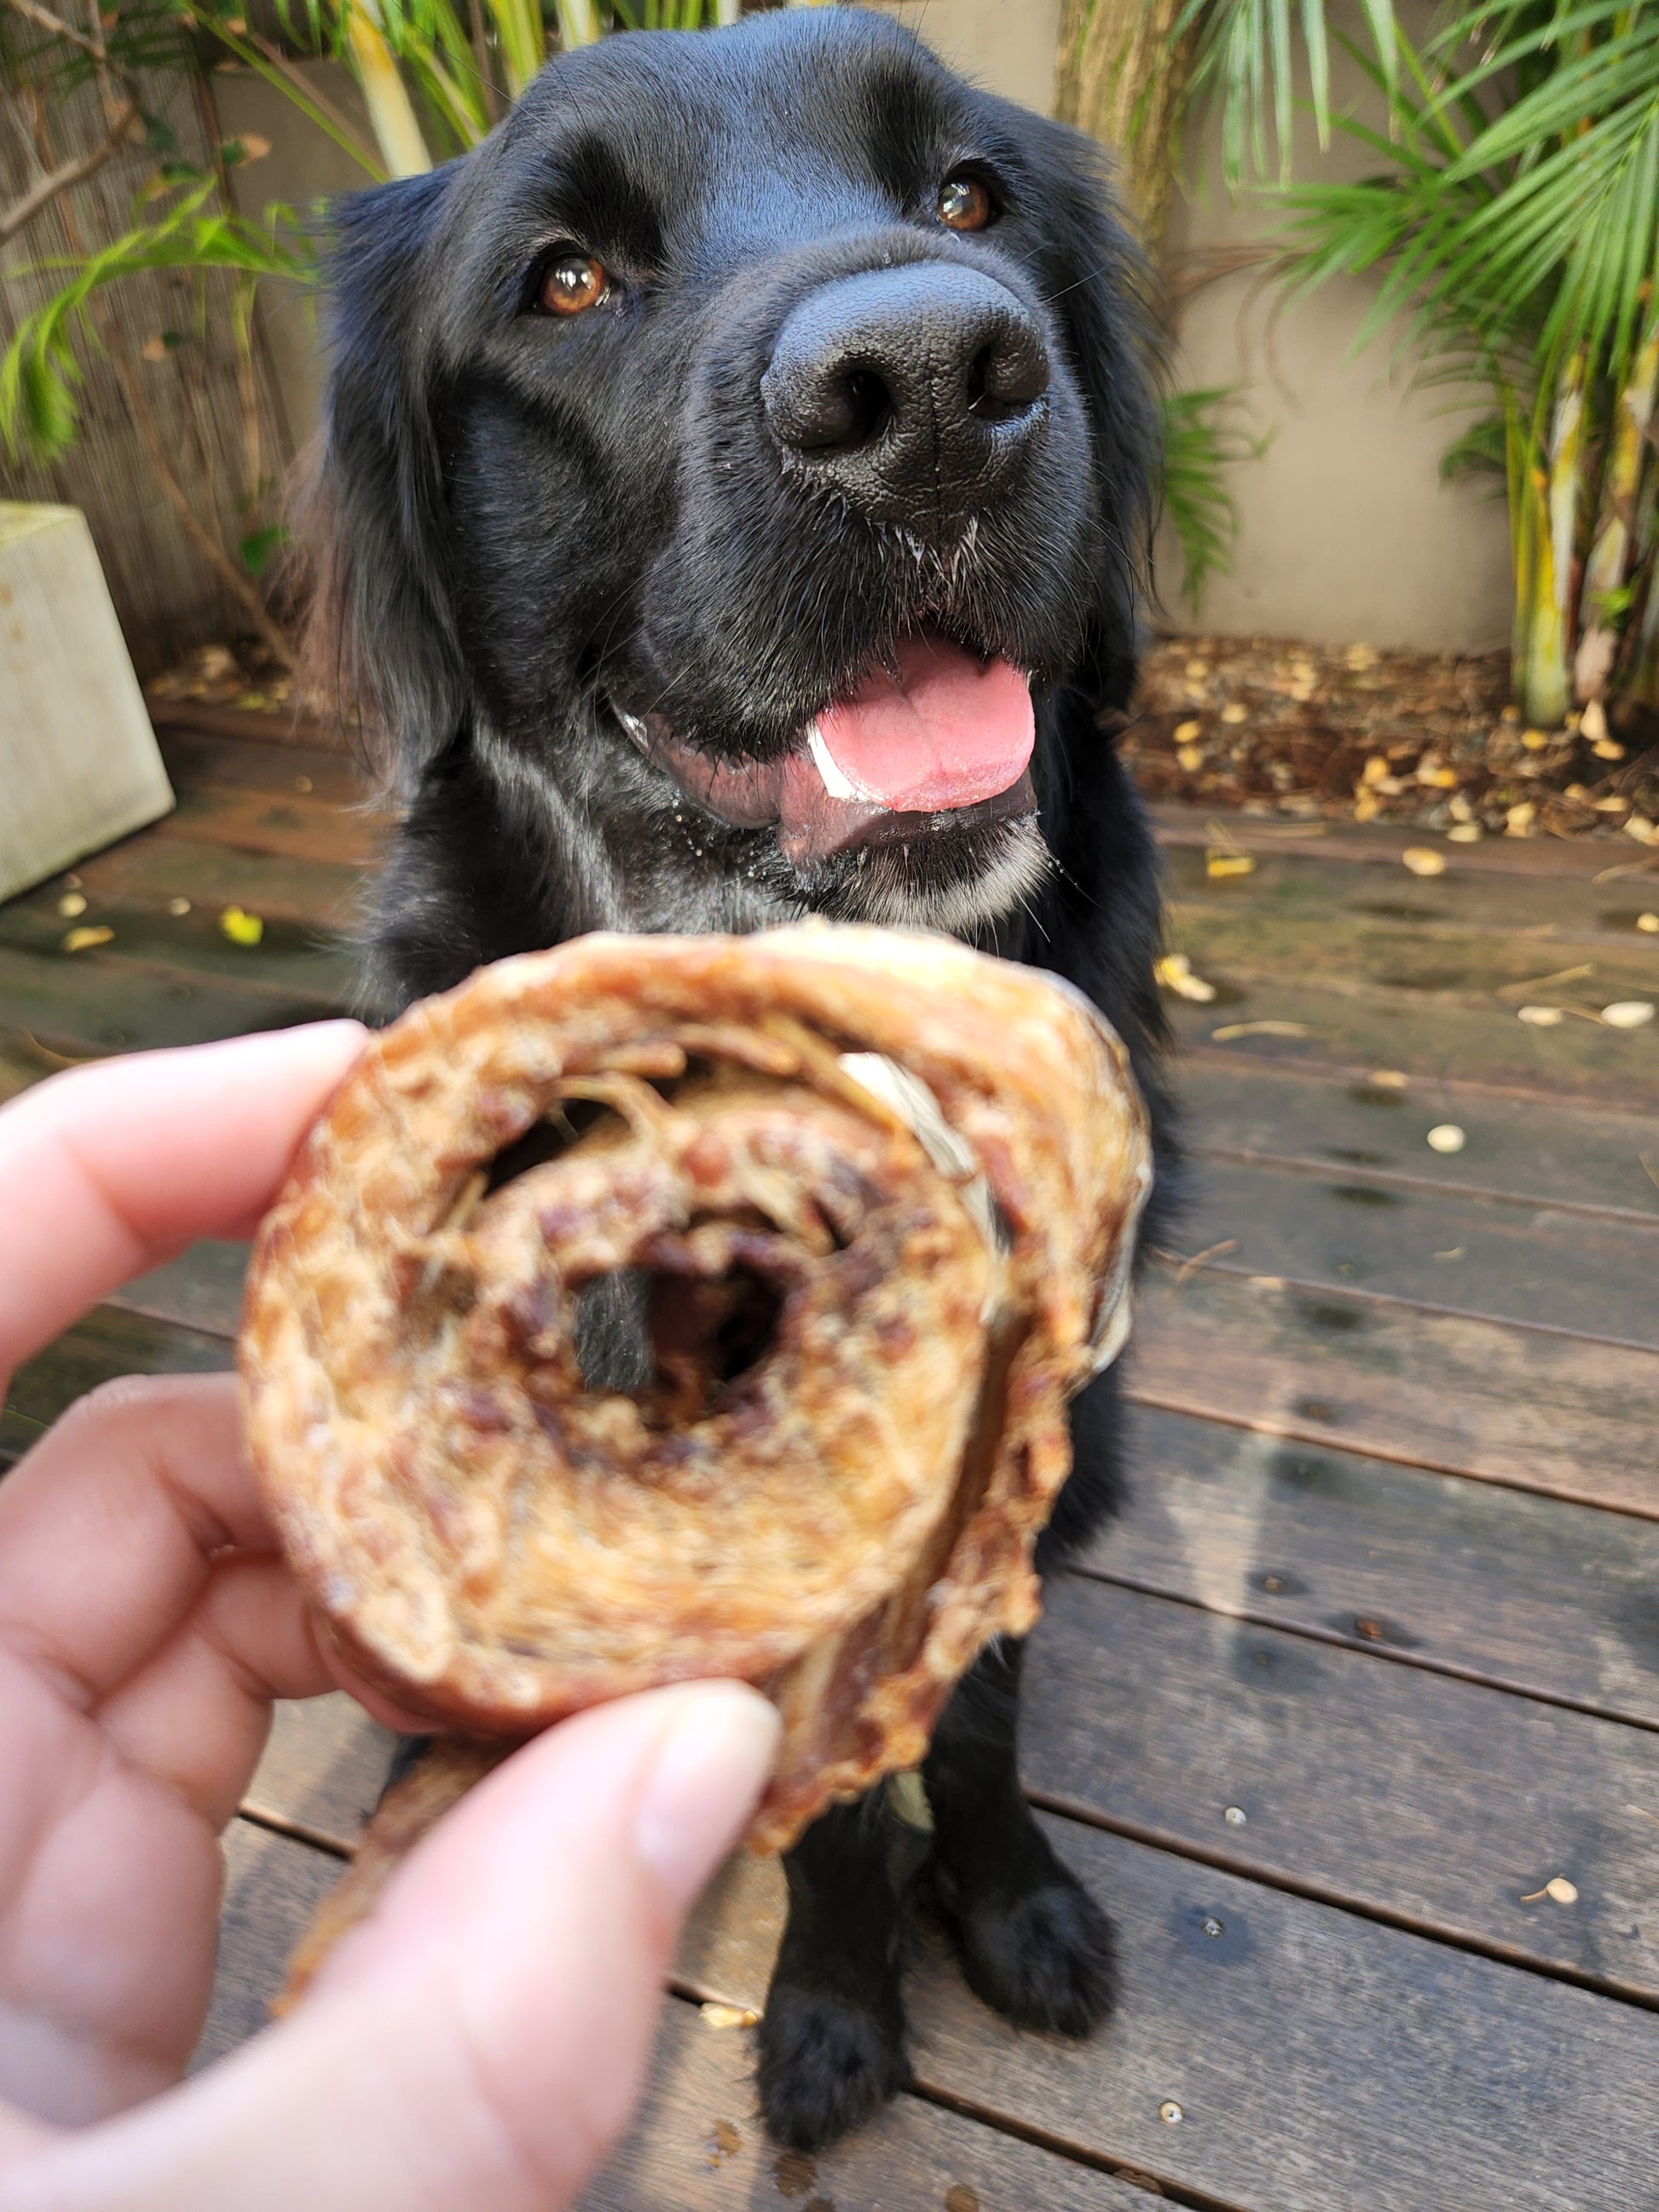
{"label": "dog's black floppy ear on the left, with brownish fringe", "polygon": [[301,522],[310,677],[405,792],[465,714],[425,341],[429,248],[456,168],[330,210],[332,365]]}

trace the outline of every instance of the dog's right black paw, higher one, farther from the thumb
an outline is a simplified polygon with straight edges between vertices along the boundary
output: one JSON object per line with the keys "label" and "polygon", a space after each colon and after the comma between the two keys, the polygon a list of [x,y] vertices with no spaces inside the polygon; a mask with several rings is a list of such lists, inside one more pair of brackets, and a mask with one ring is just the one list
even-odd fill
{"label": "dog's right black paw, higher one, farther from the thumb", "polygon": [[1117,1997],[1113,1924],[1060,1860],[1013,1896],[942,1902],[975,1997],[1022,2028],[1091,2035]]}

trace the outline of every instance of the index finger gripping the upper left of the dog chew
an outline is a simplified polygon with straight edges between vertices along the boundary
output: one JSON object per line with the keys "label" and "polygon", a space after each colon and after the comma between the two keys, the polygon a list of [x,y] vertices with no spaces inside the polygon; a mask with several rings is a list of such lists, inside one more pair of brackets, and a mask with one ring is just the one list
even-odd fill
{"label": "index finger gripping the upper left of the dog chew", "polygon": [[248,1234],[363,1037],[316,1022],[135,1053],[0,1108],[0,1380],[197,1237]]}

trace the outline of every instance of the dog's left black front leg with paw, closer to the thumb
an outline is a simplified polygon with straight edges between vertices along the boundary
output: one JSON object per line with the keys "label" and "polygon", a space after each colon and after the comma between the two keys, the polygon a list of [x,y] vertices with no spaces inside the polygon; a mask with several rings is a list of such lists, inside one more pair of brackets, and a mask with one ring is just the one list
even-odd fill
{"label": "dog's left black front leg with paw, closer to the thumb", "polygon": [[836,1805],[785,1854],[790,1918],[761,2020],[761,2110],[816,2150],[909,2084],[900,1913],[885,1787]]}

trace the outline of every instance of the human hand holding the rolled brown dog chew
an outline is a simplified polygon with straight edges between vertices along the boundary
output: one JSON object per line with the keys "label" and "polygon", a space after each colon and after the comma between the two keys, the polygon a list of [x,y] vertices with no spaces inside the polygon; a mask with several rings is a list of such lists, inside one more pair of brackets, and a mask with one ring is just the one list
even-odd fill
{"label": "human hand holding the rolled brown dog chew", "polygon": [[[0,1389],[117,1283],[246,1234],[361,1044],[153,1053],[7,1106]],[[232,1376],[104,1385],[0,1482],[0,2212],[546,2212],[626,2124],[675,1933],[776,1743],[734,1683],[526,1745],[288,2022],[175,2086],[270,1703],[343,1679]]]}

